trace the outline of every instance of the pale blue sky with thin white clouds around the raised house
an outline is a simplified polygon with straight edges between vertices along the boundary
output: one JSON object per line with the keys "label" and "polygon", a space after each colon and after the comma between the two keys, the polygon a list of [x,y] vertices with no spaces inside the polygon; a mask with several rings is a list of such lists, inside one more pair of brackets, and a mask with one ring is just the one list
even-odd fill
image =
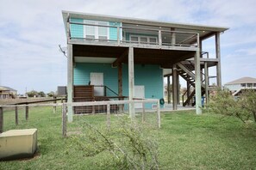
{"label": "pale blue sky with thin white clouds around the raised house", "polygon": [[[0,0],[0,85],[23,94],[66,85],[61,10],[230,27],[221,35],[222,83],[256,78],[255,0]],[[203,50],[214,54],[212,39]],[[211,70],[214,74],[214,70]]]}

